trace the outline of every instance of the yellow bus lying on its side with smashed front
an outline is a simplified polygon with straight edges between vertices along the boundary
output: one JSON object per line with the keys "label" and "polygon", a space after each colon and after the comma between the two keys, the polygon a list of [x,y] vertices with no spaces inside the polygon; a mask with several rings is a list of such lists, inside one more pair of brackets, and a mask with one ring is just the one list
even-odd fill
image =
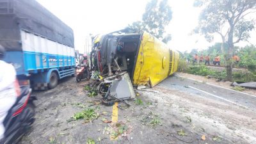
{"label": "yellow bus lying on its side with smashed front", "polygon": [[144,33],[116,31],[93,39],[92,69],[102,76],[126,71],[133,85],[156,86],[177,71],[179,52]]}

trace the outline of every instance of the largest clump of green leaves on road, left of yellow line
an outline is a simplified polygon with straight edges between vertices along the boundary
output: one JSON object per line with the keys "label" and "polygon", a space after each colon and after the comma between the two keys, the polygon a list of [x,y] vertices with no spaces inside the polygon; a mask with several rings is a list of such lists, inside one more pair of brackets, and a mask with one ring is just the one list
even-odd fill
{"label": "largest clump of green leaves on road, left of yellow line", "polygon": [[99,114],[96,113],[95,110],[92,108],[85,109],[79,113],[75,113],[75,115],[72,116],[72,118],[74,118],[74,120],[84,119],[85,122],[92,122],[93,120],[97,119],[98,117],[99,117]]}

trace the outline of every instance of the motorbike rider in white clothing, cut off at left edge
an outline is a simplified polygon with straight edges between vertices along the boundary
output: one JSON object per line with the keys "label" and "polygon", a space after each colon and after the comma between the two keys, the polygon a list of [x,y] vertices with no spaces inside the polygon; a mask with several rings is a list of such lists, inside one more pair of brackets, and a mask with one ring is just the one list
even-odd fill
{"label": "motorbike rider in white clothing, cut off at left edge", "polygon": [[0,143],[4,138],[4,118],[20,95],[15,68],[3,61],[4,54],[4,47],[0,45]]}

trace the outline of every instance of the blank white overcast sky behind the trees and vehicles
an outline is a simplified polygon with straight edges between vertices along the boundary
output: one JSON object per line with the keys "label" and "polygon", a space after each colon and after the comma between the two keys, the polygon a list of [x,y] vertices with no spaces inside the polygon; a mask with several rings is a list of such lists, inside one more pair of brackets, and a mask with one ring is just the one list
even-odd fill
{"label": "blank white overcast sky behind the trees and vehicles", "polygon": [[[86,36],[109,33],[125,28],[136,20],[141,20],[148,0],[37,0],[74,31],[75,48],[84,52]],[[200,10],[193,7],[194,0],[169,0],[173,18],[166,28],[172,40],[168,43],[173,49],[190,51],[193,48],[206,49],[212,44],[204,36],[190,35],[198,23]],[[252,32],[251,44],[256,44],[256,31]],[[250,44],[241,42],[243,46]]]}

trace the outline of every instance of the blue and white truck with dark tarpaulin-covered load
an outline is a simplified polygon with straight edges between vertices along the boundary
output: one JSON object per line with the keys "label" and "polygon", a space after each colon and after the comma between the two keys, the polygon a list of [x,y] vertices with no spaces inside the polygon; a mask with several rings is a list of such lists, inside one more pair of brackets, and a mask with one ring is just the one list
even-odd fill
{"label": "blue and white truck with dark tarpaulin-covered load", "polygon": [[74,34],[35,0],[0,0],[0,45],[19,81],[34,90],[55,88],[75,75]]}

